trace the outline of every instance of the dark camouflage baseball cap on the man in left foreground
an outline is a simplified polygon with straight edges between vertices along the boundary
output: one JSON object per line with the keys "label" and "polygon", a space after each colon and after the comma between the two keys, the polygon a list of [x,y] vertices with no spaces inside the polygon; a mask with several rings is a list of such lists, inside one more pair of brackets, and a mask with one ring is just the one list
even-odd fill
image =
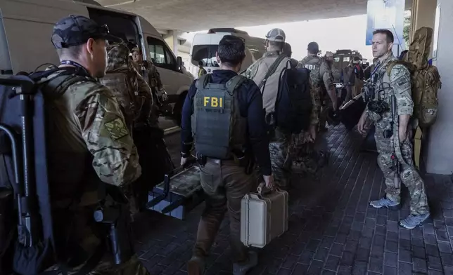
{"label": "dark camouflage baseball cap on the man in left foreground", "polygon": [[110,34],[107,25],[98,25],[94,20],[81,15],[69,15],[56,22],[51,40],[55,48],[68,48],[87,43],[90,38],[112,42],[122,41],[119,37]]}

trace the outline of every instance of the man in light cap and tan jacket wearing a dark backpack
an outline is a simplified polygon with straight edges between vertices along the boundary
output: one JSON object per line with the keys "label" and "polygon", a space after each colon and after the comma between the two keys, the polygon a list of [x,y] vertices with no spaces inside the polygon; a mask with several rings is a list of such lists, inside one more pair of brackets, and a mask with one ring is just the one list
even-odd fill
{"label": "man in light cap and tan jacket wearing a dark backpack", "polygon": [[[277,65],[274,74],[271,74],[267,80],[264,80],[269,68],[283,54],[283,46],[285,45],[285,32],[282,29],[271,29],[266,35],[265,46],[267,52],[262,58],[250,65],[245,71],[245,76],[252,79],[261,89],[263,107],[266,110],[266,116],[274,112],[276,96],[279,89],[280,72],[286,67],[290,60],[287,56],[283,57],[279,65]],[[265,90],[265,92],[263,92]],[[276,185],[286,189],[289,187],[291,177],[291,163],[288,156],[288,145],[291,141],[291,134],[285,133],[280,128],[275,129],[274,137],[271,137],[269,142],[269,150],[271,154],[272,174]]]}

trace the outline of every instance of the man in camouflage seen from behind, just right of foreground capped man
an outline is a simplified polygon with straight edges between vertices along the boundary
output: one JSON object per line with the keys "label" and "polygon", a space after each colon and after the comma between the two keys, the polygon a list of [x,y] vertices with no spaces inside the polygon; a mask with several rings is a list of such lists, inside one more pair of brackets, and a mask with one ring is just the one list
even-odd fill
{"label": "man in camouflage seen from behind, just right of foreground capped man", "polygon": [[107,47],[107,53],[106,76],[100,81],[115,94],[125,112],[130,133],[133,133],[143,168],[140,179],[134,183],[134,198],[144,209],[148,191],[162,182],[165,173],[174,166],[163,140],[163,131],[158,126],[151,88],[129,60],[129,48],[123,43],[114,43]]}

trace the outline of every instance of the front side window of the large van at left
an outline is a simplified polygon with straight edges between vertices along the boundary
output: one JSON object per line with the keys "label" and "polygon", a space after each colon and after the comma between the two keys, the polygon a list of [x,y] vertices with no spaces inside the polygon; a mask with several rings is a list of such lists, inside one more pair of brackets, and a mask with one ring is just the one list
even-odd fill
{"label": "front side window of the large van at left", "polygon": [[172,69],[177,71],[177,63],[174,59],[174,55],[170,51],[170,48],[160,39],[148,36],[148,50],[151,59],[154,61],[154,65],[165,69]]}

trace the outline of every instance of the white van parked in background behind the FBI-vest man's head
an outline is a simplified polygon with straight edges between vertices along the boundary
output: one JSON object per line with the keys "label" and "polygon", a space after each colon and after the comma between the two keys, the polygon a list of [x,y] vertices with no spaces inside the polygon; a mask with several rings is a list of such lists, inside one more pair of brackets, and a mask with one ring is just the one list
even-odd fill
{"label": "white van parked in background behind the FBI-vest man's head", "polygon": [[210,29],[207,34],[195,34],[190,51],[191,64],[189,65],[189,72],[196,78],[198,78],[198,62],[200,61],[203,62],[203,67],[208,74],[215,69],[219,69],[215,53],[217,52],[220,40],[225,35],[235,35],[245,40],[245,60],[242,63],[241,71],[247,69],[266,52],[264,39],[249,36],[247,32],[238,29]]}

